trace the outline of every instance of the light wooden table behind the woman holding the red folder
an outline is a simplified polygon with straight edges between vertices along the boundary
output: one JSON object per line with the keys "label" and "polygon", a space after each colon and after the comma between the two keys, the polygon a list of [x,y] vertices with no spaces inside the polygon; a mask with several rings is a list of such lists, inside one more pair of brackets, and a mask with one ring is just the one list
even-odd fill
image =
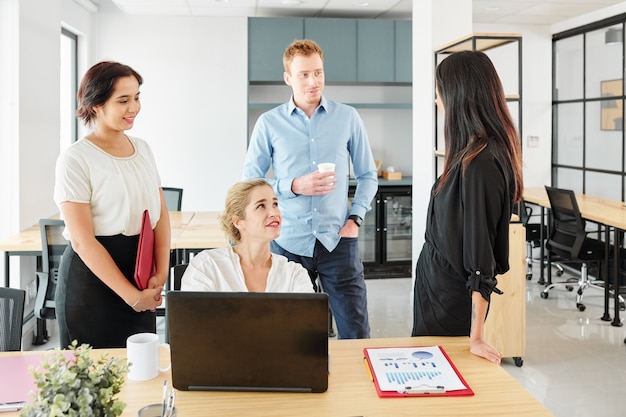
{"label": "light wooden table behind the woman holding the red folder", "polygon": [[[171,211],[171,249],[177,261],[184,262],[188,250],[217,248],[228,245],[221,231],[216,211]],[[51,218],[59,218],[56,214]],[[20,233],[0,239],[0,251],[4,252],[4,286],[9,286],[11,256],[41,256],[41,232],[39,224]]]}

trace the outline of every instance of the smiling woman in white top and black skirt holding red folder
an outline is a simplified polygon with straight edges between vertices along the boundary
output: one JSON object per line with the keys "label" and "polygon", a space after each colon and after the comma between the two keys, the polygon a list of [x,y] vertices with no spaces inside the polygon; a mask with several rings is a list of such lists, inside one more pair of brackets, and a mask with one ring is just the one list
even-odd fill
{"label": "smiling woman in white top and black skirt holding red folder", "polygon": [[[141,109],[142,82],[127,65],[100,62],[78,90],[77,116],[93,131],[56,166],[54,200],[70,241],[56,289],[61,348],[75,339],[96,348],[125,347],[131,334],[156,333],[155,309],[169,272],[169,215],[150,147],[124,133]],[[146,209],[156,272],[142,291],[134,270]]]}

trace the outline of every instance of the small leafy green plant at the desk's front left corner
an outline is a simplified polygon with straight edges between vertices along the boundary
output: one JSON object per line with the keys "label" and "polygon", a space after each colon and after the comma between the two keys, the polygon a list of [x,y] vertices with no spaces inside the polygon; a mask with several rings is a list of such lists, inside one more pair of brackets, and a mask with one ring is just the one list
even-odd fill
{"label": "small leafy green plant at the desk's front left corner", "polygon": [[37,391],[34,401],[22,410],[20,416],[94,416],[115,417],[126,407],[115,398],[120,392],[128,363],[126,358],[109,358],[106,354],[97,361],[91,358],[91,346],[72,342],[67,357],[55,350],[44,357],[43,370],[32,368]]}

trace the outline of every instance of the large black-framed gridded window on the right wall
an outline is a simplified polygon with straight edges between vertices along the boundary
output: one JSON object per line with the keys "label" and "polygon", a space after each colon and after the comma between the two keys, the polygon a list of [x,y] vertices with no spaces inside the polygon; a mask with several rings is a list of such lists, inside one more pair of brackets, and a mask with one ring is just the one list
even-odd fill
{"label": "large black-framed gridded window on the right wall", "polygon": [[552,183],[624,201],[626,15],[553,37]]}

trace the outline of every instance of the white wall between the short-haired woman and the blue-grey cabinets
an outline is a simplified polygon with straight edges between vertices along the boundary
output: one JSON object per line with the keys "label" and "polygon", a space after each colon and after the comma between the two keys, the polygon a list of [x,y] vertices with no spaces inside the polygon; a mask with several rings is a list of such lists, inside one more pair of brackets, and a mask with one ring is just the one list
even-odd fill
{"label": "white wall between the short-haired woman and the blue-grey cabinets", "polygon": [[128,16],[100,2],[94,62],[119,61],[144,78],[128,133],[150,143],[164,186],[184,188],[183,210],[221,210],[241,179],[247,33],[247,18]]}

